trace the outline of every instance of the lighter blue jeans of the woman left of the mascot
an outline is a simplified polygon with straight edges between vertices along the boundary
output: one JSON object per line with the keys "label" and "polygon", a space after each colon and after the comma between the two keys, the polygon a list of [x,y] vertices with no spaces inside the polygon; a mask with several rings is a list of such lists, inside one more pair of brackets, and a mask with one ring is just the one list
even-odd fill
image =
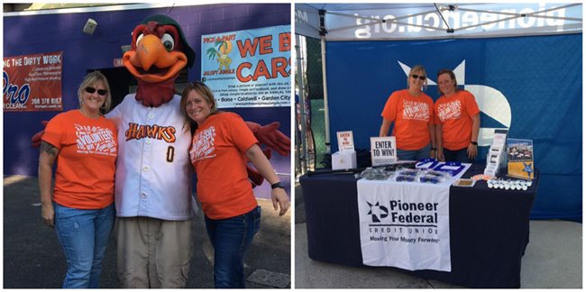
{"label": "lighter blue jeans of the woman left of the mascot", "polygon": [[53,207],[55,231],[68,266],[63,287],[99,287],[102,259],[114,226],[114,204],[85,210],[53,202]]}

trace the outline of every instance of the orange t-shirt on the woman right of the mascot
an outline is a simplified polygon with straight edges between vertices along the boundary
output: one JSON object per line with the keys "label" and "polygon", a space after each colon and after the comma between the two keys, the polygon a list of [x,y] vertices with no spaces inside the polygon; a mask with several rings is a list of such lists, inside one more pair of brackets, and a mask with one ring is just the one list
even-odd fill
{"label": "orange t-shirt on the woman right of the mascot", "polygon": [[212,114],[197,128],[189,158],[196,169],[197,198],[208,218],[230,218],[256,207],[244,156],[256,143],[238,114]]}

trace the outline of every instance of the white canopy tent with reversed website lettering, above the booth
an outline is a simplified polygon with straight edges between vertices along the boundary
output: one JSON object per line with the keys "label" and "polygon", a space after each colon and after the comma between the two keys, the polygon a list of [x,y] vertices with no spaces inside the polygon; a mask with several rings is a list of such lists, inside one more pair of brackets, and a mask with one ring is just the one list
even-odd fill
{"label": "white canopy tent with reversed website lettering, above the booth", "polygon": [[[297,4],[295,32],[321,39],[325,144],[330,129],[325,41],[389,41],[487,38],[582,31],[582,5],[575,4]],[[298,68],[303,70],[298,62]],[[299,78],[298,82],[302,82]],[[303,85],[300,98],[305,98]],[[302,101],[303,102],[303,101]],[[304,123],[304,122],[302,122]]]}

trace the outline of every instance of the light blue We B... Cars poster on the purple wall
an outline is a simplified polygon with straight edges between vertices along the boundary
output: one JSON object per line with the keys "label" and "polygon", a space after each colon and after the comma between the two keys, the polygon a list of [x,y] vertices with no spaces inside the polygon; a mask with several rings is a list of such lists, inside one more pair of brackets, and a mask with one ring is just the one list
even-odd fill
{"label": "light blue We B... Cars poster on the purple wall", "polygon": [[289,25],[202,36],[202,81],[218,108],[290,106]]}

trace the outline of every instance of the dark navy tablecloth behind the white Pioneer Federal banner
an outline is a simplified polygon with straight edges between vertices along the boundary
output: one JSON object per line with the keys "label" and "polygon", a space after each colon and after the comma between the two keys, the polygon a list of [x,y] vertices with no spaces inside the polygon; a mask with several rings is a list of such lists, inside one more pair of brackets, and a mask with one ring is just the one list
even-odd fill
{"label": "dark navy tablecloth behind the white Pioneer Federal banner", "polygon": [[[479,174],[472,165],[462,178]],[[356,178],[352,174],[315,174],[299,179],[307,220],[309,258],[353,267],[362,265]],[[526,191],[450,187],[452,271],[402,270],[465,287],[519,287],[521,257],[529,242],[529,213],[539,172]],[[381,268],[397,269],[397,268]]]}

